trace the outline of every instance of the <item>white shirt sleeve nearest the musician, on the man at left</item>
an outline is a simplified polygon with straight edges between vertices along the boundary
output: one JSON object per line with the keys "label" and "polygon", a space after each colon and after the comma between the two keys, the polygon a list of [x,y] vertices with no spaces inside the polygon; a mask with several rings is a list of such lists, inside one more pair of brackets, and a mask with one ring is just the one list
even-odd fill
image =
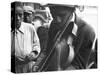
{"label": "white shirt sleeve nearest the musician, on the man at left", "polygon": [[34,28],[34,26],[32,27],[33,28],[33,42],[32,42],[32,52],[35,53],[36,57],[38,57],[41,49],[40,49],[40,41],[39,41],[39,38],[38,38],[38,35],[36,33],[36,30]]}

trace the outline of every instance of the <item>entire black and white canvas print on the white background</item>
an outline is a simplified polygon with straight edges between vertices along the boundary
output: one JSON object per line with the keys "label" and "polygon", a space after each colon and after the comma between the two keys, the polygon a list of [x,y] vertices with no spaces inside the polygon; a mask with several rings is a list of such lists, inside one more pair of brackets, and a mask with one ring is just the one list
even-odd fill
{"label": "entire black and white canvas print on the white background", "polygon": [[11,72],[98,68],[98,7],[11,3]]}

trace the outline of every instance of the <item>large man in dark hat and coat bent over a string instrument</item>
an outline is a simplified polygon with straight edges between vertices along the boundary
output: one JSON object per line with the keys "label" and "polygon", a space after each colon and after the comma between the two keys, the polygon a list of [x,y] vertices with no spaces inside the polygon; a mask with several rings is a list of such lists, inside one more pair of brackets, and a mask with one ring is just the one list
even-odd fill
{"label": "large man in dark hat and coat bent over a string instrument", "polygon": [[75,14],[75,6],[47,6],[53,21],[40,71],[86,69],[95,39],[93,28]]}

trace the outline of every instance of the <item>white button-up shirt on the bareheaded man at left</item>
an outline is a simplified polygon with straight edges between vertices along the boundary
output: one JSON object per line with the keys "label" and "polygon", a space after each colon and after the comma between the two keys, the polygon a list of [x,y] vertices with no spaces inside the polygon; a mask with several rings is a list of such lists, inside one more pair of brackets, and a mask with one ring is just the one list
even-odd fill
{"label": "white button-up shirt on the bareheaded man at left", "polygon": [[15,56],[24,58],[32,51],[37,51],[38,54],[36,56],[38,56],[40,53],[40,42],[34,26],[22,22],[19,30],[15,31],[15,35],[12,35],[12,52],[15,50]]}

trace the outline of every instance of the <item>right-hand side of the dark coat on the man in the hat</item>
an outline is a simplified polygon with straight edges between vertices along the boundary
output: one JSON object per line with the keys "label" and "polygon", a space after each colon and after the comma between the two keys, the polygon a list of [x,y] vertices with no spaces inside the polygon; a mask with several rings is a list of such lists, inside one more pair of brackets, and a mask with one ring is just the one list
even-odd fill
{"label": "right-hand side of the dark coat on the man in the hat", "polygon": [[75,57],[72,65],[77,69],[85,69],[92,51],[95,32],[90,25],[77,16],[75,18],[75,23],[78,26],[78,31],[77,37],[73,42],[75,47]]}

